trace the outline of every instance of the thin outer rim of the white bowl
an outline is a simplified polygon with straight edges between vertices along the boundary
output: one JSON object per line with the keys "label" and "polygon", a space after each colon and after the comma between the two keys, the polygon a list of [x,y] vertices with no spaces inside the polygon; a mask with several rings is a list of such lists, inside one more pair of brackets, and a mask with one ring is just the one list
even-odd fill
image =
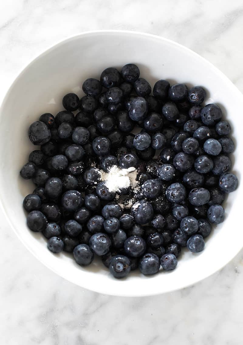
{"label": "thin outer rim of the white bowl", "polygon": [[[177,43],[173,40],[170,40],[168,38],[165,37],[161,37],[155,34],[151,34],[151,33],[145,33],[145,32],[140,32],[140,31],[132,31],[132,30],[113,30],[113,29],[109,29],[109,30],[90,30],[90,31],[84,31],[81,33],[77,33],[75,35],[71,35],[65,39],[61,39],[58,40],[57,43],[55,43],[54,45],[50,45],[49,48],[42,50],[41,53],[39,53],[38,55],[35,56],[35,58],[31,59],[28,63],[25,64],[24,68],[20,69],[19,72],[16,73],[16,77],[14,77],[12,79],[12,82],[8,88],[8,90],[6,91],[4,97],[2,98],[1,104],[0,104],[0,116],[2,114],[2,109],[4,107],[4,103],[6,102],[9,94],[11,93],[12,89],[15,86],[15,83],[18,81],[18,79],[22,76],[22,74],[25,73],[25,71],[28,69],[29,66],[31,66],[32,64],[34,64],[36,62],[37,59],[43,57],[44,55],[46,55],[47,53],[49,53],[50,51],[56,49],[58,46],[61,46],[63,44],[65,44],[68,41],[71,41],[72,39],[76,39],[79,37],[84,37],[84,36],[97,36],[99,34],[129,34],[129,35],[133,35],[134,37],[136,36],[140,36],[140,37],[146,37],[146,38],[150,38],[150,39],[157,39],[160,41],[164,41],[169,43],[170,45],[173,46],[177,46],[180,49],[183,49],[185,51],[187,51],[188,53],[190,53],[191,56],[194,56],[195,58],[199,59],[200,61],[206,63],[209,67],[211,67],[214,72],[221,77],[222,79],[224,79],[233,89],[234,92],[236,92],[238,94],[239,97],[242,98],[243,101],[243,94],[241,93],[241,91],[234,85],[234,83],[224,75],[223,72],[221,72],[221,70],[219,70],[217,67],[215,67],[213,65],[212,62],[208,61],[207,59],[205,59],[204,57],[200,56],[198,53],[196,53],[195,51],[187,48],[184,45],[181,45],[180,43]],[[94,286],[90,286],[89,284],[87,284],[85,281],[82,282],[82,286],[80,284],[78,284],[78,282],[75,279],[72,279],[70,276],[66,277],[64,274],[62,274],[61,272],[59,272],[53,265],[49,264],[49,262],[47,260],[44,260],[39,254],[38,252],[35,252],[34,248],[32,248],[28,243],[26,243],[24,240],[22,240],[21,236],[18,234],[18,232],[15,230],[15,226],[12,224],[11,219],[8,217],[6,211],[5,211],[5,207],[4,206],[4,200],[2,199],[2,195],[0,193],[0,208],[2,210],[3,215],[6,217],[8,224],[10,225],[11,229],[13,230],[13,232],[17,235],[17,237],[19,238],[20,242],[29,250],[29,252],[34,255],[43,265],[45,265],[47,268],[49,268],[50,270],[52,270],[52,272],[54,272],[55,274],[57,274],[58,276],[68,280],[71,283],[74,283],[75,285],[78,285],[82,288],[97,292],[97,293],[101,293],[101,294],[106,294],[106,295],[113,295],[113,296],[123,296],[123,297],[142,297],[142,296],[154,296],[154,295],[159,295],[159,294],[164,294],[164,293],[169,293],[169,292],[174,292],[177,290],[180,290],[182,288],[185,287],[189,287],[191,285],[194,285],[198,282],[200,282],[201,280],[204,280],[205,278],[213,275],[214,273],[218,272],[218,270],[222,269],[228,262],[230,262],[242,249],[243,244],[241,244],[241,242],[236,242],[236,248],[234,253],[230,253],[227,252],[227,254],[224,256],[224,258],[221,260],[221,264],[218,265],[217,269],[215,270],[215,268],[213,269],[208,269],[206,271],[206,273],[204,274],[203,278],[194,278],[191,277],[190,281],[188,282],[183,282],[181,281],[176,287],[172,287],[170,289],[164,289],[162,291],[159,291],[159,289],[157,290],[153,290],[148,291],[148,292],[139,292],[138,294],[133,294],[130,292],[119,292],[116,293],[115,291],[107,291],[107,289],[105,287],[103,287],[102,285],[94,285]],[[238,244],[237,244],[238,243]]]}

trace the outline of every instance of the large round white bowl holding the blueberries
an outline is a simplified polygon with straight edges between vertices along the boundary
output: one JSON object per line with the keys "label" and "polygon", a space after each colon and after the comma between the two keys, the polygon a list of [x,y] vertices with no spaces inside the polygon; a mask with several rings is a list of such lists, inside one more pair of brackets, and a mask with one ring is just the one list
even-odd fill
{"label": "large round white bowl holding the blueberries", "polygon": [[54,255],[47,250],[41,234],[26,226],[22,200],[34,185],[19,176],[29,152],[36,149],[28,139],[29,125],[44,112],[55,115],[62,110],[66,93],[76,92],[81,97],[81,85],[86,78],[99,79],[104,68],[121,68],[129,62],[139,66],[141,76],[152,86],[159,79],[168,79],[206,88],[206,102],[220,105],[224,118],[232,125],[236,144],[232,166],[240,179],[243,96],[233,83],[193,51],[165,38],[129,31],[96,31],[71,37],[45,51],[20,73],[7,92],[0,109],[0,199],[11,228],[22,243],[55,273],[100,293],[145,296],[194,284],[222,268],[239,252],[243,246],[242,184],[227,197],[225,221],[214,228],[202,253],[183,252],[177,268],[170,273],[161,271],[147,277],[136,272],[119,280],[99,262],[82,268],[71,255]]}

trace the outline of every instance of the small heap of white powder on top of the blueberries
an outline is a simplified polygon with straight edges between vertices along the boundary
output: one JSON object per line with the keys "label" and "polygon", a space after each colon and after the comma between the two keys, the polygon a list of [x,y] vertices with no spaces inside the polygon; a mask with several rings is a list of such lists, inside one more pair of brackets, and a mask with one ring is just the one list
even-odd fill
{"label": "small heap of white powder on top of the blueberries", "polygon": [[101,170],[101,180],[105,181],[106,187],[111,192],[120,192],[121,189],[128,187],[135,191],[138,185],[136,178],[137,169],[134,167],[121,169],[113,165],[108,172]]}

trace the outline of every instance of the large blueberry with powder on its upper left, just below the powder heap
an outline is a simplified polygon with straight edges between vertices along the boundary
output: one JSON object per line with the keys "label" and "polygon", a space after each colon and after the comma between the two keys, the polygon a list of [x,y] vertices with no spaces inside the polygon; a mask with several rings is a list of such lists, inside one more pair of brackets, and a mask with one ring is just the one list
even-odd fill
{"label": "large blueberry with powder on its upper left, just below the powder heap", "polygon": [[153,218],[153,207],[146,200],[140,200],[131,207],[131,215],[137,224],[146,224]]}

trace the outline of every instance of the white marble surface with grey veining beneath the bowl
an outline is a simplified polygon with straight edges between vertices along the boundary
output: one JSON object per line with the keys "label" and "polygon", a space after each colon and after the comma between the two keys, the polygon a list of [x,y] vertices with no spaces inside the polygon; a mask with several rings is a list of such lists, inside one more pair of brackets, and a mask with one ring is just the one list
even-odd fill
{"label": "white marble surface with grey veining beneath the bowl", "polygon": [[[0,95],[40,52],[93,29],[175,40],[213,62],[243,91],[242,25],[242,0],[1,1]],[[50,272],[0,219],[1,344],[242,344],[243,252],[212,277],[172,294],[110,297]]]}

